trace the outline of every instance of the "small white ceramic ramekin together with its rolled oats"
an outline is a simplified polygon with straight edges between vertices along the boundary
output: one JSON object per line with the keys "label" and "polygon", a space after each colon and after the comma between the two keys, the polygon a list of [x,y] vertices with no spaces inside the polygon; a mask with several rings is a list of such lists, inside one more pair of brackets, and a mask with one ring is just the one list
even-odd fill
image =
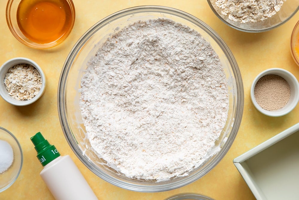
{"label": "small white ceramic ramekin together with its rolled oats", "polygon": [[46,77],[42,68],[29,58],[12,58],[0,68],[0,95],[15,106],[36,102],[45,91]]}

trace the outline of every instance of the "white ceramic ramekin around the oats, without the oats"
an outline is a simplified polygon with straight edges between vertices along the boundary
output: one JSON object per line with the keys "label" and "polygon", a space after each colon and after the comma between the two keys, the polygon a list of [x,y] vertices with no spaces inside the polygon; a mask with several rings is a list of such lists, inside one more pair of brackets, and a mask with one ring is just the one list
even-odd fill
{"label": "white ceramic ramekin around the oats, without the oats", "polygon": [[[8,91],[5,88],[4,78],[5,78],[6,73],[11,67],[13,67],[17,64],[30,64],[30,65],[32,65],[33,67],[35,67],[38,70],[39,74],[42,77],[42,87],[39,90],[39,93],[30,100],[16,100],[15,98],[13,98],[12,96],[10,96],[8,94]],[[46,88],[46,77],[45,77],[44,72],[42,71],[42,68],[40,68],[39,65],[36,64],[36,62],[34,62],[34,61],[32,61],[28,58],[19,57],[19,58],[12,58],[12,59],[6,61],[0,67],[0,80],[1,80],[1,82],[0,82],[0,96],[5,101],[7,101],[8,103],[13,104],[15,106],[27,106],[27,105],[35,102],[36,100],[38,100],[42,96],[42,94],[44,93],[45,88]]]}

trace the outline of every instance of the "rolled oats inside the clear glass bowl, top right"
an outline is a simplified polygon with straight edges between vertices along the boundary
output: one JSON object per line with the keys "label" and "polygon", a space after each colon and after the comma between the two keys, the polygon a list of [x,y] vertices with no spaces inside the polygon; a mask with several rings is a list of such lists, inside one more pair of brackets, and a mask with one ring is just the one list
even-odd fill
{"label": "rolled oats inside the clear glass bowl, top right", "polygon": [[215,4],[228,19],[247,23],[275,15],[286,0],[216,0]]}

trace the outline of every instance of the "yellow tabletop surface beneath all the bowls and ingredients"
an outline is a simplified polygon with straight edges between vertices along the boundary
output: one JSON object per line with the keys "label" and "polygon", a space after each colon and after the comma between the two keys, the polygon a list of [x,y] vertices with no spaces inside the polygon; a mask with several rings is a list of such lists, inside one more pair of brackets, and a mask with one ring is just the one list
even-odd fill
{"label": "yellow tabletop surface beneath all the bowls and ingredients", "polygon": [[[2,64],[14,57],[27,57],[36,61],[47,77],[45,93],[32,105],[17,107],[0,98],[0,126],[16,136],[24,155],[19,178],[10,188],[0,193],[0,199],[54,199],[39,176],[42,166],[36,158],[36,151],[30,141],[30,137],[39,131],[51,144],[57,147],[62,155],[69,154],[71,156],[100,200],[162,200],[183,192],[201,193],[216,200],[255,199],[235,168],[233,159],[298,123],[299,105],[286,116],[267,117],[259,113],[251,103],[250,87],[258,73],[272,67],[286,69],[299,79],[299,67],[293,61],[290,53],[291,33],[299,19],[299,13],[274,30],[263,33],[245,33],[230,28],[220,21],[205,0],[73,1],[76,9],[73,31],[62,44],[46,50],[31,49],[13,37],[5,20],[6,1],[0,1],[0,13],[2,13],[0,17],[0,63]],[[161,5],[177,8],[210,25],[233,52],[244,83],[245,104],[242,123],[234,144],[226,156],[203,178],[179,189],[160,193],[138,193],[124,190],[94,175],[80,162],[66,142],[57,112],[57,87],[60,72],[76,41],[85,31],[104,17],[116,11],[139,5]]]}

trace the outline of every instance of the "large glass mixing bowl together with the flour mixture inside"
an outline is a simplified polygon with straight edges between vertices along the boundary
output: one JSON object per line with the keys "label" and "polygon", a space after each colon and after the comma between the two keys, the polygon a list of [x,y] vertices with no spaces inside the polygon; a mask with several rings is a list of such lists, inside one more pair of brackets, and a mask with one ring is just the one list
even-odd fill
{"label": "large glass mixing bowl together with the flour mixture inside", "polygon": [[86,31],[57,95],[77,157],[138,192],[172,190],[210,172],[237,135],[244,103],[239,67],[219,35],[161,6],[121,10]]}

